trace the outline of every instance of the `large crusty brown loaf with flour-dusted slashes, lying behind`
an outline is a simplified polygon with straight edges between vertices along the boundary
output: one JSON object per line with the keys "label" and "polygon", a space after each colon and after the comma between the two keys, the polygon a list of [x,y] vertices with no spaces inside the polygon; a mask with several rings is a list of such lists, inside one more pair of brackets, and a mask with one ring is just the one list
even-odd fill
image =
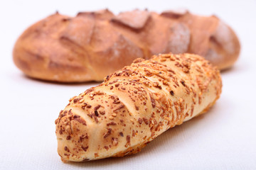
{"label": "large crusty brown loaf with flour-dusted slashes, lying behind", "polygon": [[189,52],[218,69],[231,67],[240,52],[233,30],[216,16],[188,11],[108,10],[55,13],[18,38],[14,63],[28,77],[60,82],[102,81],[141,57]]}

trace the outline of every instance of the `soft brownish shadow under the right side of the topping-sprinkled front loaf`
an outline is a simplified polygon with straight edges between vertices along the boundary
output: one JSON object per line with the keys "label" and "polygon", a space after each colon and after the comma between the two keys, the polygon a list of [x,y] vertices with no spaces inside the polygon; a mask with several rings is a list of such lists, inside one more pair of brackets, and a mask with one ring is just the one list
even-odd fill
{"label": "soft brownish shadow under the right side of the topping-sprinkled front loaf", "polygon": [[[193,118],[192,120],[188,120],[188,122],[183,123],[182,125],[178,125],[174,128],[167,130],[166,132],[161,134],[159,137],[156,137],[156,139],[151,141],[148,145],[146,145],[146,147],[142,149],[142,152],[139,152],[137,154],[132,154],[126,157],[106,158],[106,159],[100,159],[100,160],[95,160],[90,162],[70,162],[66,164],[71,164],[73,166],[86,167],[86,168],[95,167],[95,166],[97,168],[100,168],[100,167],[111,166],[112,164],[122,164],[123,162],[130,163],[135,161],[135,159],[138,159],[138,157],[143,157],[146,154],[152,155],[152,157],[157,157],[157,155],[154,155],[156,154],[156,152],[154,152],[154,149],[161,149],[161,147],[166,147],[166,145],[168,145],[169,148],[172,147],[172,145],[171,146],[169,145],[170,140],[175,141],[175,138],[183,135],[184,133],[184,132],[181,132],[180,128],[182,128],[183,131],[191,130],[191,129],[193,130],[193,128],[196,129],[196,126],[198,125],[198,123],[203,121],[203,119],[211,117],[210,115],[214,113],[214,110],[215,110],[215,106],[213,106],[213,108],[210,108],[208,113],[199,115],[196,118]],[[208,125],[210,126],[210,124]],[[196,136],[193,136],[193,137],[196,137]],[[178,147],[183,147],[183,142],[179,142],[173,147],[177,148],[177,145]],[[171,151],[172,149],[173,148],[169,149],[169,151]]]}

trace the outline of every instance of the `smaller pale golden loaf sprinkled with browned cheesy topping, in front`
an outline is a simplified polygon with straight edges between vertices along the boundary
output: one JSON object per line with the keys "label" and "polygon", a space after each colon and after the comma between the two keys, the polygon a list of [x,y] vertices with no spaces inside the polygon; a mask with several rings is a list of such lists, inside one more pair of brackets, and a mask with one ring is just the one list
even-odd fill
{"label": "smaller pale golden loaf sprinkled with browned cheesy topping, in front", "polygon": [[70,103],[56,124],[64,162],[123,157],[205,113],[221,93],[218,69],[198,55],[137,59]]}

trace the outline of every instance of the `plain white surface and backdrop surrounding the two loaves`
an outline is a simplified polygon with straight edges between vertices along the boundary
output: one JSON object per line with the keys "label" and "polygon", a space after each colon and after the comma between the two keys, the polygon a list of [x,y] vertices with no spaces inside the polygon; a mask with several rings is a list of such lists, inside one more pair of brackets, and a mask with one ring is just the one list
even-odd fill
{"label": "plain white surface and backdrop surrounding the two loaves", "polygon": [[[215,13],[238,33],[242,52],[222,73],[223,94],[205,115],[168,130],[139,154],[63,164],[54,120],[70,97],[95,84],[28,79],[14,66],[11,50],[25,28],[56,10],[75,15],[106,7]],[[1,1],[0,169],[256,169],[255,8],[255,1]]]}

